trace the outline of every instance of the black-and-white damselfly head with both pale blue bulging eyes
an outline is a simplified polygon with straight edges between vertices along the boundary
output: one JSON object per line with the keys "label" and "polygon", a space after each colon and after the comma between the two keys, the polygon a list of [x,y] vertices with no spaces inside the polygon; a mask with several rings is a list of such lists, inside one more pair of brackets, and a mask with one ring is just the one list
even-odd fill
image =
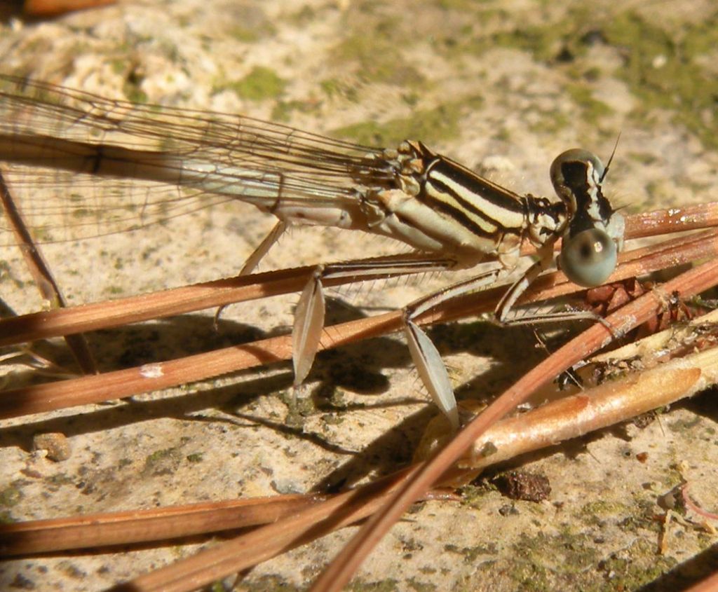
{"label": "black-and-white damselfly head with both pale blue bulging eyes", "polygon": [[567,150],[551,164],[551,182],[567,207],[559,268],[579,286],[600,286],[615,269],[623,217],[601,190],[605,166],[592,152]]}

